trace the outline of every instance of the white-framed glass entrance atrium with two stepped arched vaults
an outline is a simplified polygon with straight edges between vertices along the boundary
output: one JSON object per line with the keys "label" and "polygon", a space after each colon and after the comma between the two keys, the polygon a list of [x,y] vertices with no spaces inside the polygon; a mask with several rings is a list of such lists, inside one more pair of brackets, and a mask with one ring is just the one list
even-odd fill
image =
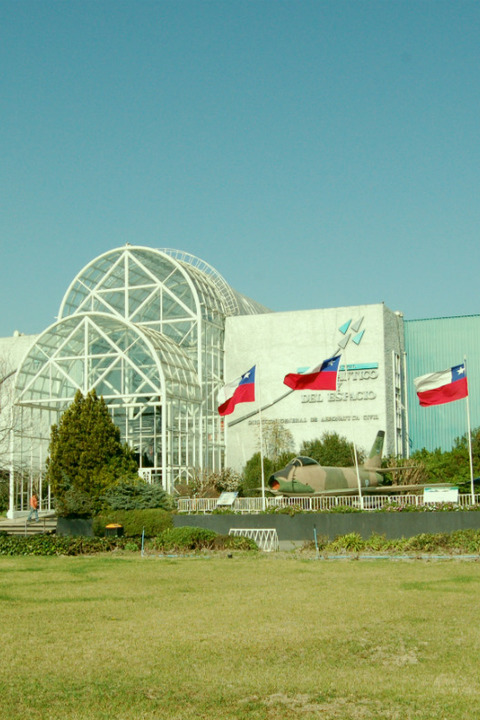
{"label": "white-framed glass entrance atrium with two stepped arched vaults", "polygon": [[126,245],[89,263],[17,372],[11,510],[41,483],[50,427],[77,390],[103,396],[140,474],[168,492],[197,469],[221,469],[225,318],[265,312],[187,253]]}

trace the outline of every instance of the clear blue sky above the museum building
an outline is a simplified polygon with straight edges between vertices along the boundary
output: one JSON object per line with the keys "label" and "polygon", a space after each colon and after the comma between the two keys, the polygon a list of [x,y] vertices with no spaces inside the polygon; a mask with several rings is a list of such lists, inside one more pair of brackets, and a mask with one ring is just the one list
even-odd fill
{"label": "clear blue sky above the museum building", "polygon": [[480,312],[480,2],[0,0],[0,336],[96,255],[273,310]]}

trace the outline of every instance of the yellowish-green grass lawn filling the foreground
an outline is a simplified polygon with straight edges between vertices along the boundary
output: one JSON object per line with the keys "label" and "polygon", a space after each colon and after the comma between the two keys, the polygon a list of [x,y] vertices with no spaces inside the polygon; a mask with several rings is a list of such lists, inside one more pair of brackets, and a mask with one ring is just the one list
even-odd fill
{"label": "yellowish-green grass lawn filling the foreground", "polygon": [[0,718],[480,717],[480,565],[0,559]]}

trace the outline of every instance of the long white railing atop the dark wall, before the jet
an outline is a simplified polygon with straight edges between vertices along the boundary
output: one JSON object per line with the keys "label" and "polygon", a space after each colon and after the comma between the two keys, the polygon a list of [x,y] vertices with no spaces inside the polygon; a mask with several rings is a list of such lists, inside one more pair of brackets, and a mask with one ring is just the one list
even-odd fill
{"label": "long white railing atop the dark wall, before the jet", "polygon": [[[475,496],[475,504],[480,503],[480,495]],[[418,495],[364,495],[364,510],[379,510],[388,505],[424,505],[423,494]],[[428,503],[431,505],[431,503]],[[472,496],[462,494],[458,496],[456,505],[468,507],[472,504]],[[265,498],[266,509],[273,508],[298,508],[304,512],[321,512],[324,510],[335,510],[339,508],[360,509],[360,498],[355,495],[342,496],[317,496],[317,497],[269,497]],[[221,510],[222,508],[218,508]],[[211,513],[217,510],[217,498],[179,498],[177,500],[179,513]],[[236,498],[231,510],[235,513],[259,513],[262,511],[262,498]]]}

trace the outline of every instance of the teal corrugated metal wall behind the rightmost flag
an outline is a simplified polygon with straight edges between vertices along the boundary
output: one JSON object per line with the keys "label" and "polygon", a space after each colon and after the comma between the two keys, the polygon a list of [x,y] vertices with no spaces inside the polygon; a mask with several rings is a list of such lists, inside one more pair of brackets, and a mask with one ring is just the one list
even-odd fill
{"label": "teal corrugated metal wall behind the rightmost flag", "polygon": [[450,450],[467,432],[466,400],[420,407],[413,379],[467,358],[472,429],[480,426],[480,315],[405,321],[410,451]]}

